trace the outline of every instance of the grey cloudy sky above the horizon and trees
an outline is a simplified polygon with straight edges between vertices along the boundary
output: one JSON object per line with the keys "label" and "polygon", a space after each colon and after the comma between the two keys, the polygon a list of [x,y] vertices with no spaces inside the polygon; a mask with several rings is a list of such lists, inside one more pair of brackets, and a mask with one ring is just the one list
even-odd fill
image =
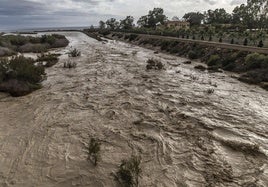
{"label": "grey cloudy sky above the horizon and trees", "polygon": [[136,20],[154,7],[182,17],[189,11],[219,7],[228,12],[246,0],[0,0],[0,30],[97,25],[110,17]]}

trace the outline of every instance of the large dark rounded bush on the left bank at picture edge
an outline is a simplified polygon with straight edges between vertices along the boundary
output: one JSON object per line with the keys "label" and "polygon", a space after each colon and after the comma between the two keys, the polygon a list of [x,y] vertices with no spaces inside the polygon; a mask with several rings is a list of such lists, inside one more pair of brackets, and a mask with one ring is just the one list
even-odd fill
{"label": "large dark rounded bush on the left bank at picture edge", "polygon": [[2,59],[0,62],[0,91],[12,96],[23,96],[40,88],[45,75],[44,67],[23,56]]}

